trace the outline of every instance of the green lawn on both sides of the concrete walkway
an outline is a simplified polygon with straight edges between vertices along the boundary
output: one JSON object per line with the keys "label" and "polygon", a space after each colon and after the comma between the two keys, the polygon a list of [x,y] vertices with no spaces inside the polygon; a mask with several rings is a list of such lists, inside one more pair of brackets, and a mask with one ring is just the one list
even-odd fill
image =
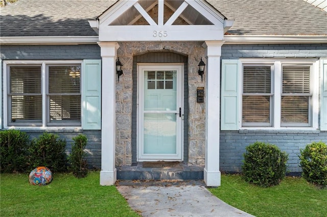
{"label": "green lawn on both sides of the concrete walkway", "polygon": [[[77,179],[54,174],[46,186],[34,186],[28,174],[0,175],[0,216],[139,216],[114,186],[100,186],[99,172]],[[209,188],[226,203],[256,216],[327,216],[327,189],[302,178],[261,188],[238,175],[222,175],[221,186]]]}

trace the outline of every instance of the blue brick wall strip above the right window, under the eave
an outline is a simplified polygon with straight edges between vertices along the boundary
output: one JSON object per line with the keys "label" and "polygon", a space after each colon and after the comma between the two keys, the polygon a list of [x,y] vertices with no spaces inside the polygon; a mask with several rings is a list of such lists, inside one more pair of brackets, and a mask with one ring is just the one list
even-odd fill
{"label": "blue brick wall strip above the right window, under the eave", "polygon": [[327,44],[225,44],[222,59],[327,57]]}

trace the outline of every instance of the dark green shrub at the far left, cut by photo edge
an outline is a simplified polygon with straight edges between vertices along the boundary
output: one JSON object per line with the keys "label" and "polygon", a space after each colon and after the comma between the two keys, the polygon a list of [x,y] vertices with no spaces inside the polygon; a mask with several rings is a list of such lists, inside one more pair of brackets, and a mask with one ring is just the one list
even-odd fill
{"label": "dark green shrub at the far left, cut by photo edge", "polygon": [[29,135],[16,129],[0,131],[1,172],[26,172]]}

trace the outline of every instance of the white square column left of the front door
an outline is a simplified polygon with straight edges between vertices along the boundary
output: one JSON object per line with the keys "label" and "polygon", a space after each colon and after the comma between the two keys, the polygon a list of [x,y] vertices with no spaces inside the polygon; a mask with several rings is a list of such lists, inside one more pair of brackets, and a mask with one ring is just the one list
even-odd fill
{"label": "white square column left of the front door", "polygon": [[101,172],[100,184],[113,185],[116,181],[115,168],[115,84],[116,84],[116,50],[118,43],[99,42],[102,57],[102,120],[101,120]]}

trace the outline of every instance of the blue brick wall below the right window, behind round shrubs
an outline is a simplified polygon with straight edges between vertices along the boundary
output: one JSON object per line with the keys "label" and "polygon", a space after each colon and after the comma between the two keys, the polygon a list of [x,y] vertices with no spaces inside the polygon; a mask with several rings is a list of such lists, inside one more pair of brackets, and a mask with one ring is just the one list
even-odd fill
{"label": "blue brick wall below the right window, behind round shrubs", "polygon": [[307,144],[327,143],[327,132],[319,130],[238,130],[220,132],[220,170],[241,172],[245,147],[256,141],[274,144],[289,154],[288,172],[301,172],[300,149]]}

